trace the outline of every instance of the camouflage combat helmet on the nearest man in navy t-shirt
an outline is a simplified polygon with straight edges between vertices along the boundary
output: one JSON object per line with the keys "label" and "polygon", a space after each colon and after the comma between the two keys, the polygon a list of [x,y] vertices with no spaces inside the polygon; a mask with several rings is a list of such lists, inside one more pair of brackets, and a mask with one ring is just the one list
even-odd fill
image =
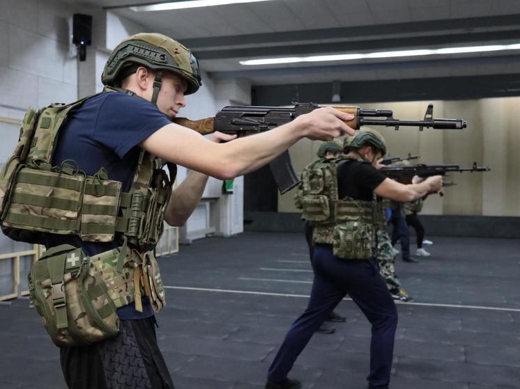
{"label": "camouflage combat helmet on the nearest man in navy t-shirt", "polygon": [[197,58],[181,43],[160,33],[138,33],[119,43],[103,69],[104,85],[120,87],[121,80],[139,66],[155,70],[152,102],[157,102],[162,72],[172,72],[188,82],[185,95],[197,92],[201,76]]}

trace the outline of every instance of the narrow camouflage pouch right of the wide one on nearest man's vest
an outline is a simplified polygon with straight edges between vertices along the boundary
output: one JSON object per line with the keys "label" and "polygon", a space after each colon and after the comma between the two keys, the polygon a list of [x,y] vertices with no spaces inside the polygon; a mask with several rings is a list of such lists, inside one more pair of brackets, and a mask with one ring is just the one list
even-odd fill
{"label": "narrow camouflage pouch right of the wide one on nearest man's vest", "polygon": [[121,182],[108,180],[105,170],[86,177],[81,227],[82,241],[113,241],[121,198]]}

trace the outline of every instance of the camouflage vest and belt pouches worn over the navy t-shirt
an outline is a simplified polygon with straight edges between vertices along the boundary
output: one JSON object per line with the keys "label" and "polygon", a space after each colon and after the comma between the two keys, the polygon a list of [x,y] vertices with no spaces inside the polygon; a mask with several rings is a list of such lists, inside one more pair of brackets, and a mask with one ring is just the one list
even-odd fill
{"label": "camouflage vest and belt pouches worn over the navy t-shirt", "polygon": [[[81,248],[58,246],[33,265],[31,299],[59,346],[89,344],[114,335],[115,309],[135,302],[136,309],[142,310],[142,292],[154,310],[165,304],[152,251],[162,236],[176,169],[169,166],[170,180],[163,170],[165,163],[141,150],[131,189],[123,192],[122,183],[109,180],[105,168],[86,175],[74,161],[52,166],[64,123],[90,97],[39,111],[29,109],[20,141],[0,175],[0,225],[6,236],[32,244],[43,244],[45,233],[75,235],[85,242],[121,241],[118,248],[92,257]],[[83,286],[80,280],[85,280]],[[85,315],[77,312],[79,300],[84,307],[79,313]],[[75,314],[89,317],[91,325],[78,326]]]}

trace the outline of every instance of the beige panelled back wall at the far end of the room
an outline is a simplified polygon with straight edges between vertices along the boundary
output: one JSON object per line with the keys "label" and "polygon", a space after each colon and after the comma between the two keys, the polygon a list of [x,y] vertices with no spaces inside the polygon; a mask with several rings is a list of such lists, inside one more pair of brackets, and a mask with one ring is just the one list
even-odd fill
{"label": "beige panelled back wall at the far end of the room", "polygon": [[[419,120],[429,102],[363,104],[363,108],[392,109],[397,119]],[[457,173],[446,177],[457,186],[445,189],[445,196],[430,196],[424,214],[520,216],[520,125],[517,112],[520,97],[483,100],[436,101],[435,118],[463,118],[468,128],[457,130],[413,127],[399,131],[378,127],[388,142],[392,156],[409,153],[421,156],[425,164],[458,164],[469,167],[473,161],[491,167],[489,173]],[[295,169],[316,158],[320,142],[300,141],[290,152]],[[291,191],[279,197],[280,212],[297,212]]]}

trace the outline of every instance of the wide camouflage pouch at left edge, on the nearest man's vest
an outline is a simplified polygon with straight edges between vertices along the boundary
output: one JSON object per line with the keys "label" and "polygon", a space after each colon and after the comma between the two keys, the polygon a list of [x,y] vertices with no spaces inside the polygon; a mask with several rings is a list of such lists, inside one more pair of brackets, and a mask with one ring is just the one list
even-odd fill
{"label": "wide camouflage pouch at left edge, on the nearest man's vest", "polygon": [[2,227],[75,234],[83,175],[23,167],[17,170],[2,214]]}

